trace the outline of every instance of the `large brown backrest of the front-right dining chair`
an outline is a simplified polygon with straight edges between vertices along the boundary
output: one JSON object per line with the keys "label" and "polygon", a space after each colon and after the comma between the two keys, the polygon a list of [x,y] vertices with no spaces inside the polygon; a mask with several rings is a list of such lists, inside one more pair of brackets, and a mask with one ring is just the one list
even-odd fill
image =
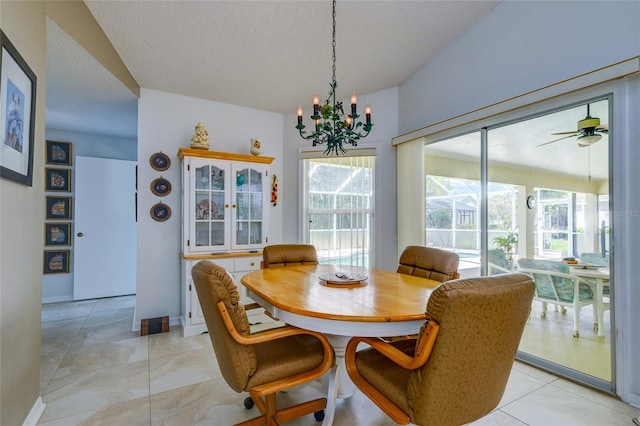
{"label": "large brown backrest of the front-right dining chair", "polygon": [[525,274],[445,282],[427,303],[440,331],[427,363],[410,374],[415,424],[465,424],[504,393],[529,317],[534,284]]}

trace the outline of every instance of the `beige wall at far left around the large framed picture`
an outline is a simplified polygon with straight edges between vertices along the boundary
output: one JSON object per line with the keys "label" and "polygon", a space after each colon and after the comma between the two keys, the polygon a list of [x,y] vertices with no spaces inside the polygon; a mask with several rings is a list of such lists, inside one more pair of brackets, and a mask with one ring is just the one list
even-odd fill
{"label": "beige wall at far left around the large framed picture", "polygon": [[43,409],[40,318],[46,34],[43,2],[0,2],[0,28],[37,77],[33,186],[0,179],[0,424]]}

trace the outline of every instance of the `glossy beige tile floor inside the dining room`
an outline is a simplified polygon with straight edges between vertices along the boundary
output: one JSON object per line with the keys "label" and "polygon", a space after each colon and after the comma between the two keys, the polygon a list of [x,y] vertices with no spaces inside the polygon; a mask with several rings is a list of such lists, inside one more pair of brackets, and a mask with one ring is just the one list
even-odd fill
{"label": "glossy beige tile floor inside the dining room", "polygon": [[[40,425],[231,425],[257,415],[226,385],[207,335],[132,332],[135,298],[42,308]],[[320,392],[310,385],[282,402]],[[289,400],[289,401],[287,401]],[[640,410],[525,364],[514,364],[498,409],[474,425],[627,425]],[[317,425],[313,416],[289,423]],[[335,425],[392,425],[356,393],[339,402]]]}

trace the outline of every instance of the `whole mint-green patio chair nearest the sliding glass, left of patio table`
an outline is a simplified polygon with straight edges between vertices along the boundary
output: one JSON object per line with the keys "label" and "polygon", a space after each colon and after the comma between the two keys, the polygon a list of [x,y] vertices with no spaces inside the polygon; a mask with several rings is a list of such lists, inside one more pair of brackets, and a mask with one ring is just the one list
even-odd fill
{"label": "whole mint-green patio chair nearest the sliding glass, left of patio table", "polygon": [[534,300],[542,302],[542,318],[547,316],[549,303],[573,308],[574,337],[580,337],[580,310],[588,305],[593,307],[596,318],[596,300],[592,285],[571,274],[565,262],[523,258],[518,260],[518,271],[528,274],[536,284]]}

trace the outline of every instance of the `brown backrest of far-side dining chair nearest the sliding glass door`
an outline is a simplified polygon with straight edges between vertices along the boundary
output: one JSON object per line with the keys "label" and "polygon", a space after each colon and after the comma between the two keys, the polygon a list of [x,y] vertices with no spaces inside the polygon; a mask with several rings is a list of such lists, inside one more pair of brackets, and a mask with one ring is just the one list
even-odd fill
{"label": "brown backrest of far-side dining chair nearest the sliding glass door", "polygon": [[460,256],[452,251],[407,246],[400,255],[397,272],[444,282],[456,278],[459,264]]}

